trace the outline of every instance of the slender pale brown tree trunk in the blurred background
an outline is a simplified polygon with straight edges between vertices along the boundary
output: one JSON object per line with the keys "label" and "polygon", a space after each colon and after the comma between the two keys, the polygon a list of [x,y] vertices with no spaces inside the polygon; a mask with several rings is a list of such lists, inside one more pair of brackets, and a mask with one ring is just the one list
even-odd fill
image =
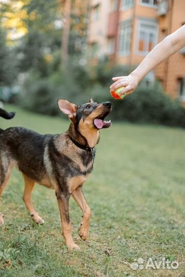
{"label": "slender pale brown tree trunk in the blurred background", "polygon": [[64,23],[63,32],[62,32],[62,46],[61,46],[61,62],[63,67],[66,67],[68,65],[70,10],[71,10],[71,0],[65,0],[64,1],[65,23]]}

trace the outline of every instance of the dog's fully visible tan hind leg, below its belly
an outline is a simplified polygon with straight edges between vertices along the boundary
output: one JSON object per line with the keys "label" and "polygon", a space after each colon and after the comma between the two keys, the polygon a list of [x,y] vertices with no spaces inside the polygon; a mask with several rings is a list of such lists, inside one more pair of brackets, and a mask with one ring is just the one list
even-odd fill
{"label": "dog's fully visible tan hind leg, below its belly", "polygon": [[28,209],[28,211],[29,211],[29,213],[32,217],[32,220],[34,220],[34,222],[44,224],[44,220],[35,211],[35,209],[33,208],[32,201],[31,201],[31,193],[32,193],[32,190],[33,190],[33,187],[34,187],[34,181],[31,180],[25,174],[23,174],[23,176],[24,176],[24,180],[25,180],[25,189],[24,189],[24,193],[23,193],[23,201],[26,205],[26,208]]}

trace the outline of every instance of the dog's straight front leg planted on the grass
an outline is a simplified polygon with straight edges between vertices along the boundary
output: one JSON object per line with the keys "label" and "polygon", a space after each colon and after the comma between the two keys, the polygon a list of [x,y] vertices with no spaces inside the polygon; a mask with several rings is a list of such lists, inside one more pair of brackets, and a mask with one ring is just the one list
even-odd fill
{"label": "dog's straight front leg planted on the grass", "polygon": [[71,235],[71,225],[69,219],[69,197],[70,194],[65,195],[62,192],[56,192],[57,201],[60,210],[61,223],[62,223],[62,235],[64,236],[66,246],[69,250],[80,249],[77,244],[74,243]]}

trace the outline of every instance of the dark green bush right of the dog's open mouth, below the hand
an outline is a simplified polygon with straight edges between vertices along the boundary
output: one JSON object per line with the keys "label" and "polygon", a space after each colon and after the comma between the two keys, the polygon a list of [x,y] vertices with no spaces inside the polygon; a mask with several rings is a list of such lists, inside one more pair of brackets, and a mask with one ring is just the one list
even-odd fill
{"label": "dark green bush right of the dog's open mouth, below the hand", "polygon": [[185,108],[162,92],[158,83],[150,88],[138,86],[136,91],[124,100],[114,100],[108,91],[108,88],[95,85],[89,93],[96,102],[112,102],[111,117],[115,120],[185,127]]}

